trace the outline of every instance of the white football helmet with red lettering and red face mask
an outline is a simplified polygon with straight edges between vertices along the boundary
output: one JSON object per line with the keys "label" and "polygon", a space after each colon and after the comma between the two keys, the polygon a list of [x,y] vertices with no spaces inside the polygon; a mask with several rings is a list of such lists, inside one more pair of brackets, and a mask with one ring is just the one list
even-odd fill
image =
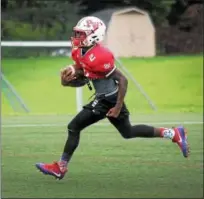
{"label": "white football helmet with red lettering and red face mask", "polygon": [[73,47],[89,47],[103,41],[106,26],[97,17],[84,17],[73,28]]}

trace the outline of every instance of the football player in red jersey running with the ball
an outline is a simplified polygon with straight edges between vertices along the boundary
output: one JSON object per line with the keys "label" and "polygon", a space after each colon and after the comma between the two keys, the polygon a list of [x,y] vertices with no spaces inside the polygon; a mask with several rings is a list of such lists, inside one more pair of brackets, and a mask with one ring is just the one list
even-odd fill
{"label": "football player in red jersey running with the ball", "polygon": [[[72,59],[75,64],[62,71],[62,85],[69,86],[69,82],[85,76],[93,84],[95,98],[85,105],[83,110],[68,124],[68,138],[60,160],[51,164],[37,163],[36,167],[44,174],[62,179],[79,145],[81,131],[104,118],[107,118],[125,139],[167,138],[179,146],[184,157],[188,157],[187,135],[182,126],[156,128],[130,123],[129,111],[124,103],[128,80],[116,68],[112,52],[101,44],[106,32],[104,22],[96,17],[84,17],[73,28],[73,31]],[[89,82],[88,85],[90,87]]]}

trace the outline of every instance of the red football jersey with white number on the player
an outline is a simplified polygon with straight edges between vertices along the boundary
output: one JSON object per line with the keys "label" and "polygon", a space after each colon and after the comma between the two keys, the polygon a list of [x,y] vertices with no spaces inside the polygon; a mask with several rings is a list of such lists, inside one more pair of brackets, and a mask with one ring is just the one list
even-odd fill
{"label": "red football jersey with white number on the player", "polygon": [[72,59],[91,80],[108,77],[116,69],[113,53],[99,44],[90,48],[84,55],[81,48],[73,49]]}

